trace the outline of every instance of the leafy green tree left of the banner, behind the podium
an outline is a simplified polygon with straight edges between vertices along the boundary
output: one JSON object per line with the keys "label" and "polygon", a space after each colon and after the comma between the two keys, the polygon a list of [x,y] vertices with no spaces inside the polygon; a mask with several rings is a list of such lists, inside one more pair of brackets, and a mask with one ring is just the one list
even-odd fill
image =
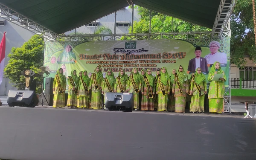
{"label": "leafy green tree left of the banner, behind the podium", "polygon": [[[38,72],[38,68],[44,64],[44,38],[40,35],[33,35],[29,41],[21,47],[12,47],[8,57],[9,63],[4,68],[4,75],[14,83],[18,90],[24,90],[26,87],[25,77],[20,73],[23,70],[30,69]],[[41,93],[42,77],[35,77],[37,80],[36,93]]]}

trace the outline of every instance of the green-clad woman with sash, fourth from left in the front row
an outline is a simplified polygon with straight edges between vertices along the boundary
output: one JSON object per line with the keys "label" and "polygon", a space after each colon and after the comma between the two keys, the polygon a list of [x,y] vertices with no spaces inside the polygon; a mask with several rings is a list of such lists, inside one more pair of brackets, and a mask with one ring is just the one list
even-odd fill
{"label": "green-clad woman with sash, fourth from left in the front row", "polygon": [[102,85],[104,78],[99,66],[95,68],[95,71],[90,79],[90,90],[92,91],[91,108],[102,109]]}

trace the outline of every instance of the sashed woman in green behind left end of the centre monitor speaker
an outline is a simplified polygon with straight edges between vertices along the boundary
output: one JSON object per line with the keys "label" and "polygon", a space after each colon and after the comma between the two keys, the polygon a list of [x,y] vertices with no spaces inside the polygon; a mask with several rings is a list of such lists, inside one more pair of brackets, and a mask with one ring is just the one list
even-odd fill
{"label": "sashed woman in green behind left end of the centre monitor speaker", "polygon": [[[108,70],[107,74],[106,74],[106,76],[103,80],[103,84],[102,84],[102,94],[104,95],[103,96],[104,104],[105,104],[106,93],[107,92],[114,92],[115,82],[116,82],[116,79],[115,79],[114,73],[112,72],[112,70]],[[104,109],[106,109],[105,105],[104,105]]]}

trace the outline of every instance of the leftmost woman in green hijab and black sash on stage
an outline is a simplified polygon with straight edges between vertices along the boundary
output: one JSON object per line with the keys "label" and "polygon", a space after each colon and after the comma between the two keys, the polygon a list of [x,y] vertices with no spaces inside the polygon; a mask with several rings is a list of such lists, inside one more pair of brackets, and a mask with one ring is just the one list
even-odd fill
{"label": "leftmost woman in green hijab and black sash on stage", "polygon": [[66,77],[63,75],[63,69],[59,68],[53,80],[53,107],[65,107]]}

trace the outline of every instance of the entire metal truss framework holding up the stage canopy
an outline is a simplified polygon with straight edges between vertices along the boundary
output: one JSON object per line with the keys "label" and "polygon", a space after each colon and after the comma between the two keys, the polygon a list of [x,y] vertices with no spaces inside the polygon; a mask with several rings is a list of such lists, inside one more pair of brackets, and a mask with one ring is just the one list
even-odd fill
{"label": "entire metal truss framework holding up the stage canopy", "polygon": [[[20,15],[14,10],[0,3],[0,17],[12,22],[35,34],[44,36],[45,41],[116,41],[116,40],[151,40],[151,39],[188,39],[188,38],[224,38],[231,37],[230,16],[237,0],[221,0],[215,22],[210,32],[170,32],[170,33],[132,33],[132,34],[104,34],[104,35],[62,35],[52,32],[44,26]],[[127,0],[133,6],[131,0]],[[132,7],[133,8],[133,7]],[[115,19],[116,20],[116,19]],[[230,67],[229,67],[230,71]],[[230,74],[230,72],[229,72]],[[230,84],[230,75],[229,75]],[[224,110],[231,113],[231,87],[224,93]]]}

